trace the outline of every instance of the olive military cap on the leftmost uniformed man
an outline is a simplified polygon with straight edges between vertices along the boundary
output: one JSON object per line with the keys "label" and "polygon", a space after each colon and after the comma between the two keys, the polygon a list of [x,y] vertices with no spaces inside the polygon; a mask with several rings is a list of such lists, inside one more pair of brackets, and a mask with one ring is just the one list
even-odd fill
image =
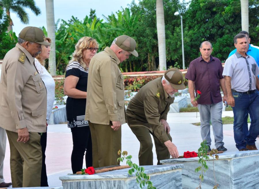
{"label": "olive military cap on the leftmost uniformed man", "polygon": [[45,41],[43,31],[37,27],[27,26],[23,28],[19,37],[25,41],[35,42],[41,45],[50,45],[49,42]]}

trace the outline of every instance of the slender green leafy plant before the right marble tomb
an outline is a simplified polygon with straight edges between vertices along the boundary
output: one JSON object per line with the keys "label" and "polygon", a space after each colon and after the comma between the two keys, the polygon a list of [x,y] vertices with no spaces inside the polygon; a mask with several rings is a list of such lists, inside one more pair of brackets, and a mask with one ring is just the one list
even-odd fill
{"label": "slender green leafy plant before the right marble tomb", "polygon": [[198,189],[198,188],[201,189],[201,182],[203,181],[203,178],[204,178],[203,173],[205,173],[206,170],[208,170],[208,166],[206,163],[206,160],[210,159],[209,156],[207,156],[208,149],[209,149],[209,146],[207,146],[207,141],[203,140],[203,142],[201,142],[201,147],[198,149],[198,157],[199,157],[198,163],[201,164],[201,166],[195,169],[195,172],[201,171],[201,174],[199,175],[200,183],[198,187],[195,189]]}

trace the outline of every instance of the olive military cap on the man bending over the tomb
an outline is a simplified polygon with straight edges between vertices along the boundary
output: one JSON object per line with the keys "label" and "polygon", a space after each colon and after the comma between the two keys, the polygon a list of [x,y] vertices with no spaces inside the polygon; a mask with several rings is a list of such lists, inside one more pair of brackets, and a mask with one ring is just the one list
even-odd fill
{"label": "olive military cap on the man bending over the tomb", "polygon": [[174,87],[174,89],[185,89],[183,84],[182,72],[176,68],[170,68],[165,71],[165,79]]}

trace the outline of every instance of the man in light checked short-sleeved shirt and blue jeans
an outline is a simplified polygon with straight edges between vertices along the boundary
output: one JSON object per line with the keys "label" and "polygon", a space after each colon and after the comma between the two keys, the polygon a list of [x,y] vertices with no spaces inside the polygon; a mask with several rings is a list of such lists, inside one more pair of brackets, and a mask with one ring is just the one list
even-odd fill
{"label": "man in light checked short-sleeved shirt and blue jeans", "polygon": [[[252,56],[247,55],[247,38],[243,34],[234,37],[237,49],[225,62],[223,76],[228,94],[228,104],[234,112],[234,138],[239,151],[257,150],[255,141],[259,132],[259,68]],[[252,119],[248,134],[242,125],[248,110]]]}

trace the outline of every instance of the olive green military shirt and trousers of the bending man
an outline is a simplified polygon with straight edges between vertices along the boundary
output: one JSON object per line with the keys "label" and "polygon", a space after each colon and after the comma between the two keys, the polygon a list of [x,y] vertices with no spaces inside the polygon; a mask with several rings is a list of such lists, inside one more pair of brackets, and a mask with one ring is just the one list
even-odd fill
{"label": "olive green military shirt and trousers of the bending man", "polygon": [[170,104],[174,102],[163,89],[161,77],[144,85],[129,102],[126,117],[127,123],[140,141],[139,165],[153,165],[153,135],[158,165],[160,160],[169,159],[170,153],[164,142],[172,138],[166,133],[161,119],[167,119]]}

